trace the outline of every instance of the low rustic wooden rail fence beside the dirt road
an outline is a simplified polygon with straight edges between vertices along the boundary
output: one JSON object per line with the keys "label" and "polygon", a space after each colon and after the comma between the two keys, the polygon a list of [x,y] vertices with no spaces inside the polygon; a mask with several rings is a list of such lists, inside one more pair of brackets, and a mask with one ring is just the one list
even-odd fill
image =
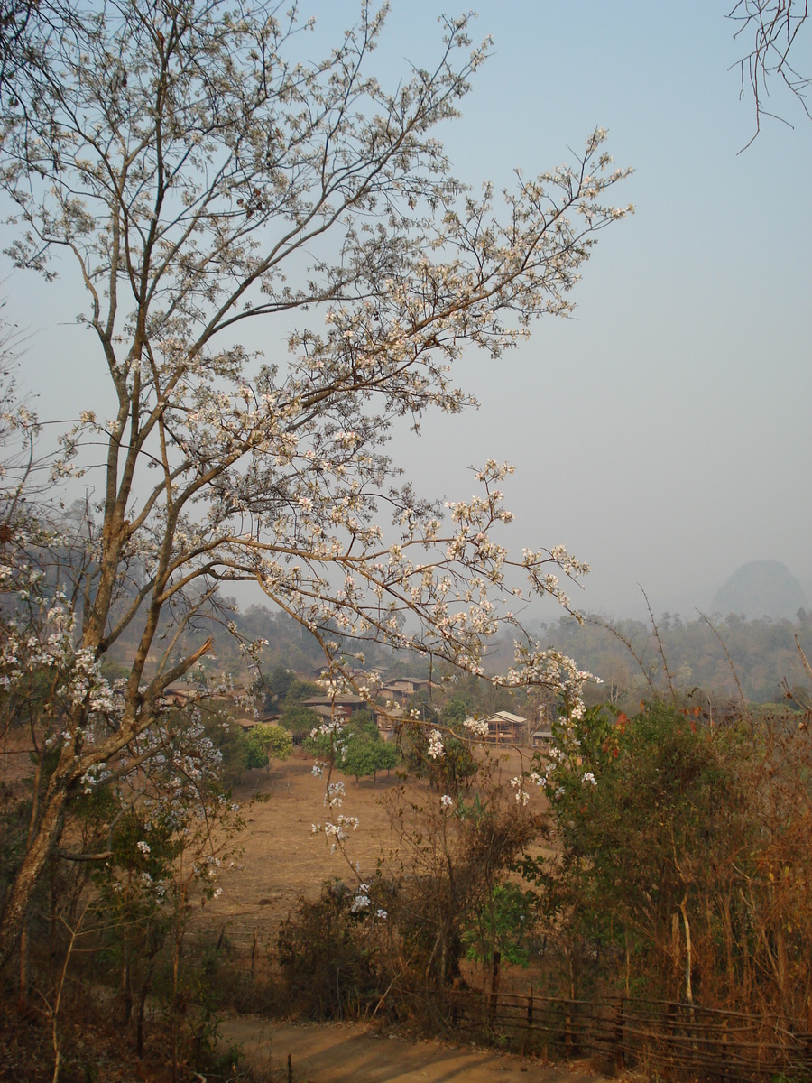
{"label": "low rustic wooden rail fence beside the dirt road", "polygon": [[723,1083],[776,1075],[812,1078],[812,1033],[776,1016],[643,1001],[565,1001],[512,993],[454,991],[451,1030],[551,1057],[599,1056],[618,1071],[642,1066]]}

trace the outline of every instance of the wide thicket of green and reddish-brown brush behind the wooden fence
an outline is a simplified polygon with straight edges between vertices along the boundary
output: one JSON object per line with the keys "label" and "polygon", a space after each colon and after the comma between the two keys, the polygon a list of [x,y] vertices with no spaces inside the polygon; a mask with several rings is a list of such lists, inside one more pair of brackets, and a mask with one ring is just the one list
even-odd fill
{"label": "wide thicket of green and reddish-brown brush behind the wooden fence", "polygon": [[534,772],[555,850],[523,861],[553,981],[806,1018],[811,767],[803,721],[659,701],[564,720]]}

